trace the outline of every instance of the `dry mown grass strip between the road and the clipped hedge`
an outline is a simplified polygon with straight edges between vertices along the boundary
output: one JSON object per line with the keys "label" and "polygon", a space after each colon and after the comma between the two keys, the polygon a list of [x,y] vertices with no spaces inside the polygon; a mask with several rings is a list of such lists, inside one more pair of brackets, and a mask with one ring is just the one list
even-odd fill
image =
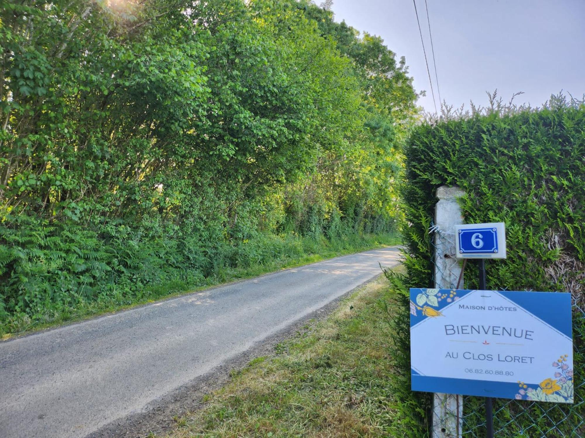
{"label": "dry mown grass strip between the road and the clipped hedge", "polygon": [[388,385],[387,293],[383,276],[366,284],[274,356],[235,373],[166,437],[401,436]]}

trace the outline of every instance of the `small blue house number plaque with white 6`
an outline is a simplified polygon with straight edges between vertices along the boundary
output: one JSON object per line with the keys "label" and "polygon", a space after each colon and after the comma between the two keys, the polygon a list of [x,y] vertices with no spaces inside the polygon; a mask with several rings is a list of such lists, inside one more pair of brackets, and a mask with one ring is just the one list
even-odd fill
{"label": "small blue house number plaque with white 6", "polygon": [[455,254],[458,259],[505,259],[503,222],[455,225]]}

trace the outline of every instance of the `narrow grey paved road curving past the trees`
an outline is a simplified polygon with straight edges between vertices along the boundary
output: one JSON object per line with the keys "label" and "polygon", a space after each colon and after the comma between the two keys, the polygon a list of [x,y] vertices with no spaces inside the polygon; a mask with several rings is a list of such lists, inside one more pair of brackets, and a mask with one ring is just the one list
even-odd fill
{"label": "narrow grey paved road curving past the trees", "polygon": [[339,257],[0,343],[0,437],[83,437],[398,263]]}

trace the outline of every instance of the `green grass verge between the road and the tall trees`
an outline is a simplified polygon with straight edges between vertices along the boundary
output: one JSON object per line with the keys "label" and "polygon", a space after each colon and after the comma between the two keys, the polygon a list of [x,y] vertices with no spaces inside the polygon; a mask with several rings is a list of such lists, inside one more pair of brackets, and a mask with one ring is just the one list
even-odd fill
{"label": "green grass verge between the road and the tall trees", "polygon": [[222,260],[214,273],[201,277],[197,283],[167,281],[144,287],[134,295],[108,296],[104,300],[80,301],[75,307],[48,308],[35,315],[20,313],[0,321],[0,339],[51,328],[67,322],[77,322],[111,312],[127,310],[137,305],[153,303],[230,281],[256,277],[279,269],[307,265],[336,256],[396,245],[394,234],[350,235],[328,240],[299,237],[294,234],[264,235],[246,244],[245,250],[233,253],[230,262]]}

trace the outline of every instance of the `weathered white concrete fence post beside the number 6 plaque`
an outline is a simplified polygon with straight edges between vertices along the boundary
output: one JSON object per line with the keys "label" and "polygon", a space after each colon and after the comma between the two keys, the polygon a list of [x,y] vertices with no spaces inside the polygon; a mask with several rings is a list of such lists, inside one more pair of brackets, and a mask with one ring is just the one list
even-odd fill
{"label": "weathered white concrete fence post beside the number 6 plaque", "polygon": [[[461,267],[455,258],[455,225],[463,223],[457,198],[463,196],[459,187],[441,186],[435,207],[435,287],[455,288]],[[463,284],[460,285],[460,288]],[[456,394],[435,393],[433,397],[433,438],[462,436],[463,398]]]}

